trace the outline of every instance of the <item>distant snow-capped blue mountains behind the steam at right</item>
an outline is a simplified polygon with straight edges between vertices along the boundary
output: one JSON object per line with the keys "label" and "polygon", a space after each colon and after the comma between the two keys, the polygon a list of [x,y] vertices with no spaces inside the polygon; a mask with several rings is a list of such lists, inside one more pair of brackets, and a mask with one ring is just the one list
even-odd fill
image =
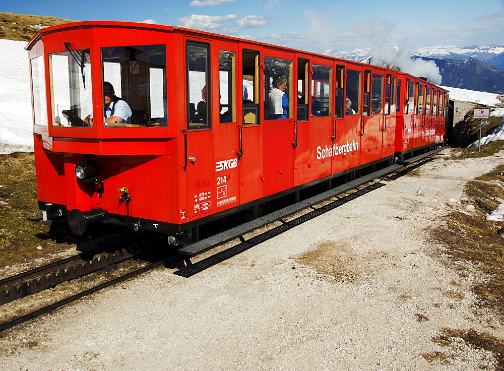
{"label": "distant snow-capped blue mountains behind the steam at right", "polygon": [[[382,54],[394,55],[399,52],[400,49],[394,47]],[[352,52],[329,49],[325,54],[361,63],[375,64],[374,60],[376,60],[371,54],[371,49],[355,49]],[[440,85],[504,94],[504,71],[502,71],[504,45],[424,47],[417,49],[411,58],[434,61],[442,76]],[[391,57],[391,59],[395,58]],[[396,64],[395,60],[387,60],[387,62]]]}

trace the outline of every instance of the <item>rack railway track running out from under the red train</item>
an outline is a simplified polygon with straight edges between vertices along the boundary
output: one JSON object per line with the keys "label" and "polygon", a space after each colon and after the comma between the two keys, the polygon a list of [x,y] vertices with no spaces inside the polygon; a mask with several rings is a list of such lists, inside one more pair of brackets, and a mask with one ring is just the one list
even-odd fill
{"label": "rack railway track running out from under the red train", "polygon": [[[48,313],[55,308],[75,301],[93,292],[99,291],[105,287],[109,287],[121,281],[128,280],[163,265],[178,267],[179,269],[175,271],[174,274],[187,278],[191,277],[215,264],[223,262],[258,245],[261,242],[284,233],[297,225],[316,218],[317,216],[320,216],[347,202],[350,202],[368,192],[381,188],[386,185],[387,181],[395,180],[398,177],[429,161],[431,161],[431,158],[426,158],[426,156],[423,156],[416,161],[410,161],[405,166],[398,166],[395,170],[386,172],[378,176],[383,181],[376,181],[375,178],[370,178],[368,181],[361,180],[358,182],[358,184],[355,185],[355,187],[347,187],[344,192],[341,192],[339,194],[335,194],[333,196],[329,195],[329,197],[326,197],[328,195],[324,196],[323,194],[321,194],[323,196],[319,196],[319,198],[317,199],[313,199],[311,201],[305,200],[305,205],[301,205],[303,206],[301,209],[299,209],[299,206],[294,207],[294,209],[290,210],[292,211],[291,214],[295,214],[296,212],[299,212],[303,209],[311,209],[311,211],[304,213],[301,216],[295,217],[287,222],[283,220],[285,216],[283,215],[282,210],[276,211],[275,215],[277,215],[277,218],[274,221],[280,221],[282,224],[275,226],[264,233],[251,237],[248,240],[244,240],[242,237],[242,235],[245,234],[245,231],[253,231],[260,226],[271,224],[273,221],[270,221],[268,218],[263,220],[261,220],[261,218],[258,218],[260,220],[256,221],[256,224],[259,223],[259,227],[254,227],[253,223],[250,226],[245,226],[245,229],[243,229],[243,225],[241,225],[235,227],[238,229],[236,229],[234,232],[232,231],[235,228],[231,228],[227,231],[218,233],[217,235],[214,235],[209,239],[206,239],[206,242],[205,240],[202,240],[204,244],[206,243],[205,246],[208,246],[211,242],[212,246],[210,248],[213,248],[217,245],[223,244],[226,241],[230,241],[231,239],[236,238],[236,233],[240,233],[239,243],[222,252],[199,260],[196,263],[192,263],[191,260],[187,259],[188,256],[185,253],[181,254],[180,250],[182,249],[179,250],[179,253],[167,253],[167,242],[165,241],[163,235],[144,233],[127,240],[114,242],[106,246],[106,248],[102,248],[102,252],[95,251],[86,254],[80,254],[71,258],[62,259],[57,262],[50,263],[43,267],[32,269],[30,271],[12,277],[2,279],[0,280],[0,306],[2,306],[2,308],[6,308],[6,306],[11,305],[11,302],[20,301],[21,305],[19,307],[21,309],[18,310],[15,308],[13,310],[11,309],[10,311],[3,311],[4,313],[7,313],[7,315],[4,316],[4,319],[0,319],[0,321],[3,321],[3,323],[0,322],[0,332],[18,324],[24,323],[42,314]],[[376,173],[379,174],[380,172]],[[319,200],[319,202],[316,202],[317,200]],[[145,249],[147,247],[148,249]],[[205,251],[209,250],[210,248],[205,248]],[[150,253],[154,252],[154,254],[146,256],[146,251],[149,251]],[[135,264],[131,264],[132,261],[135,261]],[[130,264],[128,264],[128,262],[130,262]],[[121,265],[127,268],[124,268]],[[99,275],[100,277],[98,279],[96,279],[96,277],[90,279],[90,281],[93,281],[94,283],[87,282],[86,284],[81,285],[82,289],[77,290],[77,292],[75,292],[75,290],[70,290],[72,292],[70,294],[67,294],[66,296],[64,295],[65,297],[63,298],[60,298],[60,295],[55,295],[58,296],[58,298],[56,300],[52,300],[50,303],[46,303],[47,298],[43,298],[41,300],[42,304],[35,310],[26,310],[26,308],[23,308],[26,307],[27,304],[23,303],[22,301],[28,295],[40,293],[41,291],[50,288],[55,288],[56,286],[69,281],[76,281],[79,279],[88,280],[88,277],[90,275],[97,274],[97,272],[101,271],[105,271],[106,273],[113,271],[113,277],[108,277],[105,279],[103,278],[104,275]],[[119,271],[121,273],[116,274]],[[10,314],[8,312],[10,312]],[[19,312],[21,312],[21,315],[19,315]]]}

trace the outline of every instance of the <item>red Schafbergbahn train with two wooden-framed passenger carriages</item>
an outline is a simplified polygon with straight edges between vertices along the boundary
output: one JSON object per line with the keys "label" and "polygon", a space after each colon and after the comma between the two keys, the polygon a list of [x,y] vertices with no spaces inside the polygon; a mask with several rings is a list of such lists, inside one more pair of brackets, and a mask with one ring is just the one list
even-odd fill
{"label": "red Schafbergbahn train with two wooden-framed passenger carriages", "polygon": [[444,141],[447,92],[395,70],[124,22],[46,28],[27,50],[39,206],[77,234],[101,221],[191,243]]}

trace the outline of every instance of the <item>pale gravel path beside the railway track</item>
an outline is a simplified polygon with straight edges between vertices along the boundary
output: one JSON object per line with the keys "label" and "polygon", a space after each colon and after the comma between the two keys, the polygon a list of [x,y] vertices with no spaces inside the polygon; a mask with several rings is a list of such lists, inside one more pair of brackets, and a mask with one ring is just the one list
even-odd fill
{"label": "pale gravel path beside the railway track", "polygon": [[485,277],[428,231],[471,212],[464,184],[504,151],[449,154],[188,278],[151,271],[4,331],[2,369],[498,369],[456,335],[504,338],[470,290]]}

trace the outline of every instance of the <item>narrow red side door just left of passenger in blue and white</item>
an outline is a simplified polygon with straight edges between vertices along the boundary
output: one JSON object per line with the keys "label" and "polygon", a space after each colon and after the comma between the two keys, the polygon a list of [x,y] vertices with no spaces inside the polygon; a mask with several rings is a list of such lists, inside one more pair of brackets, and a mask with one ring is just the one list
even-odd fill
{"label": "narrow red side door just left of passenger in blue and white", "polygon": [[[240,48],[238,59],[238,168],[240,203],[263,197],[263,136],[261,127],[260,50]],[[241,104],[239,104],[241,101]],[[240,109],[241,107],[241,109]]]}

